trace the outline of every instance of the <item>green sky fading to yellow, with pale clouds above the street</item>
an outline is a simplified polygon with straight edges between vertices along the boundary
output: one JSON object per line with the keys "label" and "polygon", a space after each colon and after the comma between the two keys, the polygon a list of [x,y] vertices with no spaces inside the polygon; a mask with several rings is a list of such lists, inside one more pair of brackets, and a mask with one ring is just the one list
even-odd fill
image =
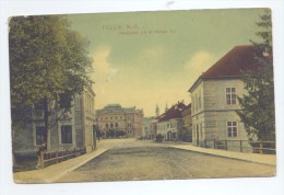
{"label": "green sky fading to yellow, with pale clouds above the street", "polygon": [[95,108],[143,108],[154,116],[236,45],[257,39],[263,9],[71,14],[71,27],[90,41]]}

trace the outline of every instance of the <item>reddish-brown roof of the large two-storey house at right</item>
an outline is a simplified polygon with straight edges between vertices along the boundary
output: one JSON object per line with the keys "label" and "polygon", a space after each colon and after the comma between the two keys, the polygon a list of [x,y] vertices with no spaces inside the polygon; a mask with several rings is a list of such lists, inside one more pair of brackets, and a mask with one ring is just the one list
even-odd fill
{"label": "reddish-brown roof of the large two-storey house at right", "polygon": [[200,80],[240,78],[241,71],[257,70],[253,45],[240,45],[234,47],[211,68],[202,73],[189,89],[191,91]]}

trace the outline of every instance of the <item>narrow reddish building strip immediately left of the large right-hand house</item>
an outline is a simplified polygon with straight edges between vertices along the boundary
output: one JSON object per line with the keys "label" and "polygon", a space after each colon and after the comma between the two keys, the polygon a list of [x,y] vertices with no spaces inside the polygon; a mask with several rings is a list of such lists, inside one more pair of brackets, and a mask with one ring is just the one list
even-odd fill
{"label": "narrow reddish building strip immediately left of the large right-hand house", "polygon": [[188,104],[181,113],[182,115],[182,141],[192,141],[191,104]]}

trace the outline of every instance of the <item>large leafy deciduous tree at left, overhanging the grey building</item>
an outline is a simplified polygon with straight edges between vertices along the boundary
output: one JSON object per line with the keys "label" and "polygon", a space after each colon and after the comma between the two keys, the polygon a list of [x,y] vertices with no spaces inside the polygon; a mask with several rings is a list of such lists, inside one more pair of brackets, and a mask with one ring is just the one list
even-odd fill
{"label": "large leafy deciduous tree at left, overhanging the grey building", "polygon": [[[31,107],[43,105],[45,134],[71,108],[75,94],[92,81],[87,42],[64,16],[15,16],[9,23],[12,129],[31,119]],[[50,124],[50,116],[60,111]],[[47,145],[46,145],[47,147]]]}

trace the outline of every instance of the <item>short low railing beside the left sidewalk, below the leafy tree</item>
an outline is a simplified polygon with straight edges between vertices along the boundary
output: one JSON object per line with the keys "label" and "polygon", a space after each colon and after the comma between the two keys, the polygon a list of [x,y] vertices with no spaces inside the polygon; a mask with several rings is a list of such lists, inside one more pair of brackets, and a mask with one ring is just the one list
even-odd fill
{"label": "short low railing beside the left sidewalk, below the leafy tree", "polygon": [[52,150],[52,151],[40,151],[40,168],[45,168],[46,165],[55,164],[78,156],[86,153],[85,148],[74,148],[71,150]]}

